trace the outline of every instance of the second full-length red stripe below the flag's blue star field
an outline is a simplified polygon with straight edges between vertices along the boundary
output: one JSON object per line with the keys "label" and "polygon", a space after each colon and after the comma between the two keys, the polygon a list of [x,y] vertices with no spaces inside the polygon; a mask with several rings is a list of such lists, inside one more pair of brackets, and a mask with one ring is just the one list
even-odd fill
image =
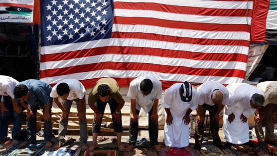
{"label": "second full-length red stripe below the flag's blue star field", "polygon": [[81,72],[89,72],[96,70],[141,70],[141,71],[153,71],[160,73],[171,74],[187,74],[196,76],[221,76],[221,77],[245,77],[245,71],[237,69],[203,69],[203,68],[191,68],[182,66],[169,66],[160,64],[149,63],[136,63],[136,62],[101,62],[85,65],[76,65],[65,68],[55,68],[40,71],[40,78],[68,75]]}

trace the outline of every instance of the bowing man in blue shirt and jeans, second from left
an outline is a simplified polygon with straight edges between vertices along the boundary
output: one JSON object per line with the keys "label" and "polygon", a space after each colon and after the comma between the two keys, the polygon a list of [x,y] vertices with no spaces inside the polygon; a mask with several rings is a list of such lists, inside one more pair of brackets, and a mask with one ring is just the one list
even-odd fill
{"label": "bowing man in blue shirt and jeans, second from left", "polygon": [[19,145],[19,148],[36,141],[36,112],[42,109],[44,120],[45,147],[52,146],[51,108],[53,98],[50,97],[52,87],[42,81],[30,79],[19,82],[13,90],[16,101],[27,110],[27,139]]}

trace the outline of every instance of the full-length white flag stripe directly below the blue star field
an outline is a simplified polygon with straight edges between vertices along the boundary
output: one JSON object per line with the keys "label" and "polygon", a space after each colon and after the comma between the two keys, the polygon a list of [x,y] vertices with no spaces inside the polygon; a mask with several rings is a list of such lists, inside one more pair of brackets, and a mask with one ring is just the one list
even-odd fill
{"label": "full-length white flag stripe directly below the blue star field", "polygon": [[165,42],[147,39],[136,38],[111,38],[101,39],[96,41],[71,43],[63,45],[51,45],[41,47],[41,54],[54,54],[68,51],[90,49],[104,46],[134,46],[134,47],[148,47],[169,50],[184,50],[191,52],[203,53],[238,53],[248,55],[248,47],[245,46],[232,46],[232,45],[198,45],[176,42]]}

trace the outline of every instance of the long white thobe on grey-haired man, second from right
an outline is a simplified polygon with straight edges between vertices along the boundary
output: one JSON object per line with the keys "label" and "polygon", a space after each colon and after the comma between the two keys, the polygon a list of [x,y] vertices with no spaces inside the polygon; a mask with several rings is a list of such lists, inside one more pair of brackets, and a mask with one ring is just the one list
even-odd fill
{"label": "long white thobe on grey-haired man, second from right", "polygon": [[[264,95],[257,87],[246,83],[233,83],[226,87],[229,91],[230,103],[224,107],[223,130],[225,139],[232,144],[244,144],[249,142],[248,121],[243,123],[241,115],[249,118],[255,113],[255,109],[250,106],[253,94]],[[234,113],[235,119],[230,124],[228,116]]]}

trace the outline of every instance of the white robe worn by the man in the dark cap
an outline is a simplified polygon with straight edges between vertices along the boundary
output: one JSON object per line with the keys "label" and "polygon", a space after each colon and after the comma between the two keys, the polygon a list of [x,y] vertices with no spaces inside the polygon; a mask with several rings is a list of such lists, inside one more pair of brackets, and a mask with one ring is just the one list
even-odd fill
{"label": "white robe worn by the man in the dark cap", "polygon": [[[187,110],[197,108],[197,91],[192,87],[192,100],[183,102],[180,98],[179,89],[182,83],[173,84],[165,90],[162,102],[164,108],[169,108],[173,117],[173,124],[164,125],[164,144],[169,147],[183,148],[189,144],[189,124],[185,125],[183,117]],[[165,113],[166,116],[166,113]]]}

